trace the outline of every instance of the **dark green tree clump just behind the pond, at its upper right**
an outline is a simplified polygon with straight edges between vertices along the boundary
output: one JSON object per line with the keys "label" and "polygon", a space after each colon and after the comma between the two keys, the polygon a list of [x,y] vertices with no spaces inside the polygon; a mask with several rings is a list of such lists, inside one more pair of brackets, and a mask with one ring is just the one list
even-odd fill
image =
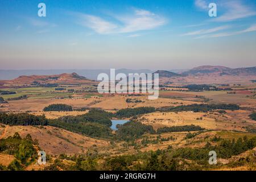
{"label": "dark green tree clump just behind the pond, at its upper right", "polygon": [[133,117],[139,114],[147,114],[155,111],[155,107],[137,107],[118,110],[117,117]]}

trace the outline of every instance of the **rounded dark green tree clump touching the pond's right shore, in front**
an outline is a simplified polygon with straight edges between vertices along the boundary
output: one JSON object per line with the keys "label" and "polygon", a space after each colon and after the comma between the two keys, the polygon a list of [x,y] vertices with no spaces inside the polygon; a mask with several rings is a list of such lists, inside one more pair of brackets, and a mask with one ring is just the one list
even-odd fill
{"label": "rounded dark green tree clump touching the pond's right shore, in front", "polygon": [[117,138],[122,140],[133,140],[145,133],[155,133],[152,126],[144,125],[141,122],[129,121],[118,127]]}

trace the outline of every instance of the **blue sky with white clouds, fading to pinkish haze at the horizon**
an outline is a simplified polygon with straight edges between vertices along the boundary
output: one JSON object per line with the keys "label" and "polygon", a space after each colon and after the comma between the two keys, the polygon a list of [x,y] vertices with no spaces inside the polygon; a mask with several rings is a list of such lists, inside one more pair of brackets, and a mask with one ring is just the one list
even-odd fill
{"label": "blue sky with white clouds, fading to pinkish haze at the horizon", "polygon": [[252,67],[255,48],[255,0],[0,1],[0,69]]}

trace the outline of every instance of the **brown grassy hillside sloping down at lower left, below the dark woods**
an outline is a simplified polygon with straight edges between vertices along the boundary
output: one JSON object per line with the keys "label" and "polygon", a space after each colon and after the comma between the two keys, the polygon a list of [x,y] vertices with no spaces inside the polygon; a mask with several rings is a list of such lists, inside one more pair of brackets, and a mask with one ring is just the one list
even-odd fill
{"label": "brown grassy hillside sloping down at lower left, below the dark woods", "polygon": [[[5,128],[0,127],[0,133],[3,130]],[[9,126],[3,138],[13,136],[15,132],[18,132],[22,138],[30,134],[32,139],[38,140],[39,147],[51,155],[81,154],[92,147],[109,145],[108,141],[85,137],[52,126]]]}

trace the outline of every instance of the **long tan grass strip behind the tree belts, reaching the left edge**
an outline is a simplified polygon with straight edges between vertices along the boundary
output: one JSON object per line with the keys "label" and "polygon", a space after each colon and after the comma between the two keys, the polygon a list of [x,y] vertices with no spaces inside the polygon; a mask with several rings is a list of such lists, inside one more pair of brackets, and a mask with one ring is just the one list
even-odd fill
{"label": "long tan grass strip behind the tree belts, reaching the left edge", "polygon": [[[127,103],[126,99],[136,99],[141,100],[139,103]],[[82,107],[92,107],[92,108],[101,108],[104,110],[115,110],[115,109],[125,109],[127,107],[164,107],[164,106],[179,106],[179,105],[190,105],[190,104],[200,104],[201,102],[195,101],[184,101],[172,98],[159,98],[158,100],[147,100],[147,96],[137,96],[137,97],[128,97],[128,96],[109,96],[104,97],[92,96],[89,98],[64,98],[64,99],[52,99],[52,98],[35,98],[28,100],[17,100],[9,101],[8,104],[2,104],[2,110],[6,111],[16,111],[16,112],[25,112],[32,111],[38,112],[42,111],[44,107],[51,104],[67,104],[71,105],[73,108],[82,108]]]}

